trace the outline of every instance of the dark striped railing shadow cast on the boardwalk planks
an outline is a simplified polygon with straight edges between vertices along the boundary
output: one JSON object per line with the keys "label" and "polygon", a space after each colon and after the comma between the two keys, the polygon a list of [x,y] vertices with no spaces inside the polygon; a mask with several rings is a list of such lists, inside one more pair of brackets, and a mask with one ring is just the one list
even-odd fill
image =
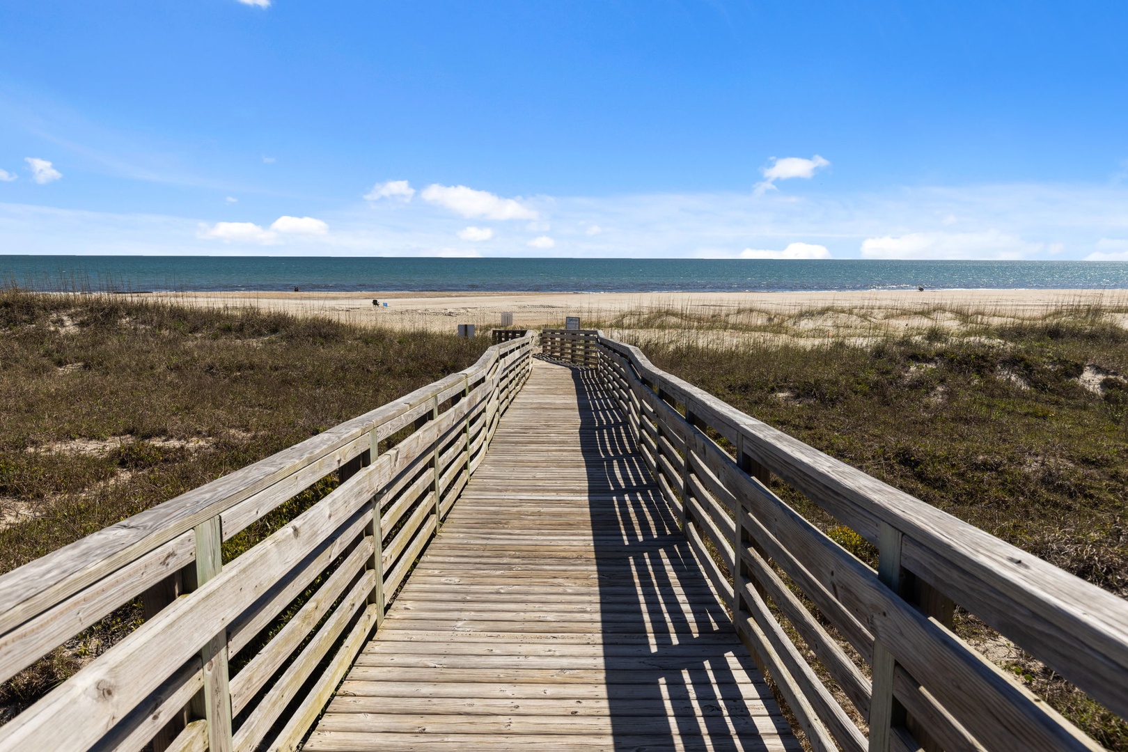
{"label": "dark striped railing shadow cast on the boardwalk planks", "polygon": [[[625,416],[594,371],[573,366],[572,378],[615,749],[764,749],[757,723],[774,722],[775,734],[790,735],[778,714],[769,718],[752,699],[768,696],[767,688],[747,687],[756,667],[654,486]],[[662,719],[668,727],[659,731]]]}

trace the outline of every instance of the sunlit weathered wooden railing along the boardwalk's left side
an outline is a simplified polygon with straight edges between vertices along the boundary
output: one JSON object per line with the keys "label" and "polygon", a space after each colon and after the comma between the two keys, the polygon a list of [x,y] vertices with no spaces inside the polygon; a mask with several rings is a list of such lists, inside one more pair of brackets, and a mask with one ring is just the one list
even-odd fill
{"label": "sunlit weathered wooden railing along the boardwalk's left side", "polygon": [[[477,468],[534,343],[494,345],[0,577],[0,681],[144,608],[140,627],[0,726],[0,751],[294,749]],[[223,541],[333,474],[335,489],[223,560]]]}

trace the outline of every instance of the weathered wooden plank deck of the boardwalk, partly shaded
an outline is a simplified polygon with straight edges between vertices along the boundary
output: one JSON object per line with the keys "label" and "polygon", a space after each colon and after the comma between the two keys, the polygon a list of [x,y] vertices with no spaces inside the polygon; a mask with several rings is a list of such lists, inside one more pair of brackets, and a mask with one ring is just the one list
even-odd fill
{"label": "weathered wooden plank deck of the boardwalk, partly shaded", "polygon": [[800,749],[592,374],[535,363],[306,750]]}

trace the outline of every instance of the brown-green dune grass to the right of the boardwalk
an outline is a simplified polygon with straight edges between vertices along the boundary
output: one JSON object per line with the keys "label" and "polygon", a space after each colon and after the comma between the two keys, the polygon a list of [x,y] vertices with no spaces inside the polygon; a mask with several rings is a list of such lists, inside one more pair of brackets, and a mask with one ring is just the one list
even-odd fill
{"label": "brown-green dune grass to the right of the boardwalk", "polygon": [[[867,346],[616,336],[740,410],[1128,596],[1128,331],[1100,311]],[[854,531],[775,490],[875,566]],[[1128,723],[970,614],[958,611],[955,626],[1104,746],[1128,750]]]}

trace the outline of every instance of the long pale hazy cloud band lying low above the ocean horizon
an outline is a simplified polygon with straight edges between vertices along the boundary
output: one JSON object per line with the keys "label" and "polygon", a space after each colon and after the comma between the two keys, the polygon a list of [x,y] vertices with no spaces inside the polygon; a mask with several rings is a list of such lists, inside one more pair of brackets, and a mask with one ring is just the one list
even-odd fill
{"label": "long pale hazy cloud band lying low above the ocean horizon", "polygon": [[[288,204],[294,205],[293,200],[288,198]],[[538,196],[536,210],[541,218],[536,224],[550,224],[550,232],[527,230],[531,221],[500,232],[496,225],[467,222],[437,203],[358,201],[336,211],[319,211],[317,221],[327,223],[326,232],[318,235],[314,228],[319,225],[308,224],[314,231],[300,235],[266,223],[218,227],[209,220],[200,225],[195,218],[0,204],[0,247],[32,254],[433,256],[455,245],[469,224],[494,230],[490,242],[457,240],[475,245],[484,256],[544,256],[566,248],[569,256],[576,257],[737,258],[741,249],[795,257],[821,255],[817,248],[825,248],[834,258],[1111,259],[1110,254],[1126,253],[1116,245],[1128,238],[1126,205],[1128,185],[1107,182],[933,186],[816,196],[769,193],[759,198],[747,192]],[[951,222],[950,218],[958,219]],[[589,235],[591,227],[605,231]],[[528,245],[538,237],[552,238],[554,245]],[[793,247],[796,242],[804,245]]]}

